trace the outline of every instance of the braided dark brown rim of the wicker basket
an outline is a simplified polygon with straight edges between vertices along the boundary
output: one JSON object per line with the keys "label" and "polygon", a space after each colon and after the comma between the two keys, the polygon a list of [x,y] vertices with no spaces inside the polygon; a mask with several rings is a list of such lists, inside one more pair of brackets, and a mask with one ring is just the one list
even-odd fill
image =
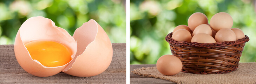
{"label": "braided dark brown rim of the wicker basket", "polygon": [[245,35],[244,38],[236,40],[236,41],[224,41],[224,42],[216,42],[216,43],[198,43],[198,42],[187,42],[187,41],[176,41],[173,38],[171,38],[172,32],[169,33],[165,37],[165,41],[167,41],[170,44],[175,45],[181,45],[186,47],[199,47],[199,48],[215,48],[215,47],[229,47],[234,45],[242,45],[249,41],[249,37]]}

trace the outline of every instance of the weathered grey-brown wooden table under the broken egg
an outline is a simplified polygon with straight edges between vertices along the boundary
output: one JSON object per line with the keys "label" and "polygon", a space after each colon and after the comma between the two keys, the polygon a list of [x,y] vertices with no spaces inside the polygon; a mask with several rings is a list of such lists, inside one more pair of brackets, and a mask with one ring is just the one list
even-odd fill
{"label": "weathered grey-brown wooden table under the broken egg", "polygon": [[126,83],[126,43],[112,43],[113,58],[106,71],[93,77],[75,77],[60,72],[50,77],[27,73],[18,64],[14,45],[0,45],[0,84],[6,83]]}

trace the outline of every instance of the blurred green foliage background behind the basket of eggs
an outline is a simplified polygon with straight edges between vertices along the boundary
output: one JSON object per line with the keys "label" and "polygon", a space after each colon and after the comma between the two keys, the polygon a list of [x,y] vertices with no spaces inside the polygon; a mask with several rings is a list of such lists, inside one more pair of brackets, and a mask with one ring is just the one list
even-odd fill
{"label": "blurred green foliage background behind the basket of eggs", "polygon": [[187,21],[195,12],[208,20],[218,12],[229,13],[234,25],[250,37],[240,62],[256,61],[255,0],[131,0],[130,64],[156,64],[157,59],[171,54],[165,36]]}

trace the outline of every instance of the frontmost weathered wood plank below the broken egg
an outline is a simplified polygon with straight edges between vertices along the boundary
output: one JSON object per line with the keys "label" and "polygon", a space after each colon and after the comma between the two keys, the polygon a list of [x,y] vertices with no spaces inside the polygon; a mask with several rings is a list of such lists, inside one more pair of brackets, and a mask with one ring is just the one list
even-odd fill
{"label": "frontmost weathered wood plank below the broken egg", "polygon": [[67,75],[66,73],[58,73],[57,75],[53,75],[50,77],[36,77],[30,75],[29,73],[4,73],[0,74],[4,75],[5,77],[1,77],[4,81],[0,82],[1,84],[6,83],[64,83],[64,84],[78,84],[78,83],[109,83],[109,84],[124,84],[125,83],[125,72],[118,72],[118,73],[110,73],[110,72],[103,72],[100,75],[93,76],[93,77],[76,77]]}

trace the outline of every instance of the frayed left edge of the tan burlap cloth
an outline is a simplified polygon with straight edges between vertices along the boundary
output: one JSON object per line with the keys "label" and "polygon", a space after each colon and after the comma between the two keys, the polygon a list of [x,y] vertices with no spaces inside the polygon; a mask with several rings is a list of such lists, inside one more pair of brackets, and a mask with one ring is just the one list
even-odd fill
{"label": "frayed left edge of the tan burlap cloth", "polygon": [[163,80],[168,80],[170,82],[174,82],[174,83],[177,83],[177,84],[184,84],[185,82],[183,81],[180,81],[180,80],[176,80],[176,79],[166,79],[166,78],[163,78],[163,77],[158,77],[157,75],[151,75],[151,74],[147,74],[147,73],[140,73],[140,71],[143,71],[143,70],[148,70],[148,69],[156,69],[156,67],[147,67],[147,68],[140,68],[140,69],[134,69],[133,71],[131,71],[132,73],[134,74],[137,74],[137,75],[140,75],[140,76],[146,76],[146,77],[151,77],[151,78],[160,78],[160,79],[163,79]]}

